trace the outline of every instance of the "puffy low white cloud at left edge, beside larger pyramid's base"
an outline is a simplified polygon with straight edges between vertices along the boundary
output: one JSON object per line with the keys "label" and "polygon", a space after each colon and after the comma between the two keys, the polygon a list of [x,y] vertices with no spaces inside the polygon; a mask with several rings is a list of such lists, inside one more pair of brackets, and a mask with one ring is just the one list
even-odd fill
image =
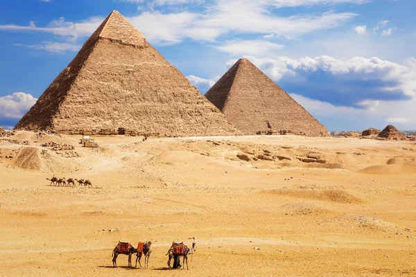
{"label": "puffy low white cloud at left edge, beside larger pyramid's base", "polygon": [[21,118],[30,109],[37,98],[24,92],[15,92],[0,97],[0,118]]}

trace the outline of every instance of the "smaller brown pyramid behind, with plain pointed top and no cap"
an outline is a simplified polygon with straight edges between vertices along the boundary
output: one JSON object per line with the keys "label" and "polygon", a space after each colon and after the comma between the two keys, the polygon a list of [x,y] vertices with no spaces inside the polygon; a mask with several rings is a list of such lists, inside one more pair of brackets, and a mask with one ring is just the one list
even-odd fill
{"label": "smaller brown pyramid behind, with plain pointed top and no cap", "polygon": [[243,134],[281,132],[328,136],[328,130],[247,59],[205,94]]}

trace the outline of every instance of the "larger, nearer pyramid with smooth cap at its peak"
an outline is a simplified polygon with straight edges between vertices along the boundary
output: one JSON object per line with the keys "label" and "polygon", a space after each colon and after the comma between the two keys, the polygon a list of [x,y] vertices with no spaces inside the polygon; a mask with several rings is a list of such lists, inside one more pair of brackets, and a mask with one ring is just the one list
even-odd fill
{"label": "larger, nearer pyramid with smooth cap at its peak", "polygon": [[236,134],[225,116],[115,10],[15,128]]}

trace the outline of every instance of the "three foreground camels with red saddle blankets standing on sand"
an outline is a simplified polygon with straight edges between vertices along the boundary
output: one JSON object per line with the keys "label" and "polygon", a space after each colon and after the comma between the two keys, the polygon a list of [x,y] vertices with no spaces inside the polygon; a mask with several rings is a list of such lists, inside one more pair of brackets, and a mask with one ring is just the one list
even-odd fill
{"label": "three foreground camels with red saddle blankets standing on sand", "polygon": [[[185,263],[187,265],[187,269],[189,269],[188,265],[188,256],[193,256],[193,253],[196,251],[196,241],[195,238],[193,238],[192,242],[192,248],[189,249],[187,245],[185,245],[183,242],[177,243],[173,242],[171,245],[171,248],[168,249],[168,252],[166,253],[166,256],[168,256],[168,268],[169,269],[179,269],[182,267],[180,265],[180,257],[183,257],[183,267],[182,269],[185,269]],[[127,255],[128,256],[128,267],[132,267],[132,255],[136,254],[136,265],[137,262],[139,262],[139,265],[141,268],[140,260],[141,256],[144,256],[144,268],[149,268],[149,258],[150,254],[152,253],[152,242],[146,241],[146,242],[139,242],[137,244],[137,248],[133,247],[132,244],[129,242],[119,242],[119,244],[116,245],[114,250],[112,251],[112,263],[113,267],[117,267],[117,257],[120,254]],[[173,267],[171,267],[171,260],[173,259]],[[192,258],[191,258],[192,261]]]}

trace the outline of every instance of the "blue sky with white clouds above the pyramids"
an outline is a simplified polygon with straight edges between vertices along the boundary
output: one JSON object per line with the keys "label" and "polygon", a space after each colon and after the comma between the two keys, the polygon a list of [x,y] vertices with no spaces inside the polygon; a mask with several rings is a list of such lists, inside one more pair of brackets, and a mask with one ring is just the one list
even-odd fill
{"label": "blue sky with white clouds above the pyramids", "polygon": [[13,126],[112,10],[202,93],[248,57],[329,130],[416,129],[413,0],[14,0],[0,10]]}

